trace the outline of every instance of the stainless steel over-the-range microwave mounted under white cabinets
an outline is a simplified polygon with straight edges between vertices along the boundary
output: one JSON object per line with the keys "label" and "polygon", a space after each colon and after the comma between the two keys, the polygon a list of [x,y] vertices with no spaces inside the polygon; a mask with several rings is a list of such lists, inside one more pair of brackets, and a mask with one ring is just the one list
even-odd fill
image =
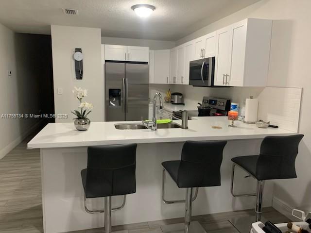
{"label": "stainless steel over-the-range microwave mounted under white cabinets", "polygon": [[189,85],[214,86],[215,57],[190,62]]}

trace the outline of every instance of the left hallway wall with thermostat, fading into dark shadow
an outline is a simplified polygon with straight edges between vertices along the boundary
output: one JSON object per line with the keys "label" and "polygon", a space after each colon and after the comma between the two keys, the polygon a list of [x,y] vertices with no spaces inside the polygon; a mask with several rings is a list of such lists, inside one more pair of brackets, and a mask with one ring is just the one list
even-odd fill
{"label": "left hallway wall with thermostat, fading into dark shadow", "polygon": [[[35,46],[29,36],[14,33],[0,24],[0,116],[39,113]],[[12,71],[12,76],[8,76],[8,69]],[[32,133],[40,121],[38,118],[0,117],[0,158]]]}

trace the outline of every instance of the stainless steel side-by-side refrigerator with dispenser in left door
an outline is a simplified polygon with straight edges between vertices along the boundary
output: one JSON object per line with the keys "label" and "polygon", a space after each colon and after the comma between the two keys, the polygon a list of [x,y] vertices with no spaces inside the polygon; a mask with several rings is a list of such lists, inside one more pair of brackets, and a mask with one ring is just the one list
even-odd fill
{"label": "stainless steel side-by-side refrigerator with dispenser in left door", "polygon": [[149,65],[105,63],[106,121],[148,119]]}

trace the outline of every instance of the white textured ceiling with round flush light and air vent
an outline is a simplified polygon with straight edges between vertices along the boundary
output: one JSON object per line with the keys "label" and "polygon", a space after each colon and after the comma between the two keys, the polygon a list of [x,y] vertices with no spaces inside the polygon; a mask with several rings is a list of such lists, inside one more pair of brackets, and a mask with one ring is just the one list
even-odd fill
{"label": "white textured ceiling with round flush light and air vent", "polygon": [[[50,34],[51,24],[96,27],[102,36],[176,41],[259,0],[0,0],[0,23],[20,33]],[[142,19],[131,6],[156,7]],[[67,16],[61,8],[73,8]]]}

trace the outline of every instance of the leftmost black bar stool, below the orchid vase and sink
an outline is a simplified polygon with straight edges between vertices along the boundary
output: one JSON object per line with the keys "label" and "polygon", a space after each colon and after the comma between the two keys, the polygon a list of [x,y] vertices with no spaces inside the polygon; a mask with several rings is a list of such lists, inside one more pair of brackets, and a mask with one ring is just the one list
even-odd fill
{"label": "leftmost black bar stool, below the orchid vase and sink", "polygon": [[[137,144],[87,148],[87,168],[81,171],[87,213],[104,213],[104,232],[111,233],[111,211],[125,205],[125,195],[136,192]],[[111,196],[124,195],[121,206],[111,208]],[[89,210],[87,198],[104,197],[104,209]]]}

